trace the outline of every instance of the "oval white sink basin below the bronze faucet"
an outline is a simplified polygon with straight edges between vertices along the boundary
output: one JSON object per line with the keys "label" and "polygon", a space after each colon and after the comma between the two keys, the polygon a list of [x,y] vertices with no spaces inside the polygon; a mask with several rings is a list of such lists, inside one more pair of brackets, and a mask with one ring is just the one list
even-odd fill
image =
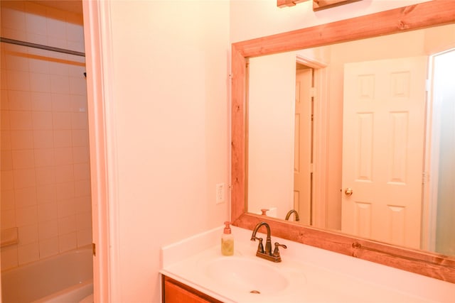
{"label": "oval white sink basin below the bronze faucet", "polygon": [[289,285],[289,280],[265,262],[235,256],[215,258],[205,264],[205,272],[213,282],[223,287],[240,292],[276,294]]}

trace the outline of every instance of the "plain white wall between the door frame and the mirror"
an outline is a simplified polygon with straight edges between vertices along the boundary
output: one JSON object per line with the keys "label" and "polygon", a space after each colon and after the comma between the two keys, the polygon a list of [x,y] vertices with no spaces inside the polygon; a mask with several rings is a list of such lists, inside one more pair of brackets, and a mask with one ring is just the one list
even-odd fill
{"label": "plain white wall between the door frame and the mirror", "polygon": [[[114,302],[159,302],[160,248],[229,219],[228,1],[111,1],[119,272]],[[108,168],[109,170],[109,168]],[[112,218],[111,218],[112,219]]]}

